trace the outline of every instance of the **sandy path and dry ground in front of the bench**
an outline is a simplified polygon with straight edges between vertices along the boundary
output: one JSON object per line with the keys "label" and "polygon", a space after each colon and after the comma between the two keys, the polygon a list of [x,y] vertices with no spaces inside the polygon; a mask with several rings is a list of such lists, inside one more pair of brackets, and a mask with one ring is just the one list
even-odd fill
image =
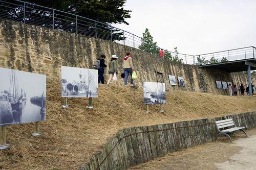
{"label": "sandy path and dry ground in front of the bench", "polygon": [[256,129],[183,151],[167,154],[130,169],[256,169]]}

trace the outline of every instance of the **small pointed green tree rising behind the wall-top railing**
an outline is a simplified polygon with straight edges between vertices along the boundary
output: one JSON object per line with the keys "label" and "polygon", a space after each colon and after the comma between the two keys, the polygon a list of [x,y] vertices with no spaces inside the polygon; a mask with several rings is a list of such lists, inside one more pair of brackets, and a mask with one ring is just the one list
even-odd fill
{"label": "small pointed green tree rising behind the wall-top railing", "polygon": [[139,45],[139,49],[151,53],[154,56],[158,56],[160,47],[157,46],[157,42],[154,42],[153,37],[151,36],[150,31],[147,28],[145,32],[142,33],[142,39],[143,41]]}

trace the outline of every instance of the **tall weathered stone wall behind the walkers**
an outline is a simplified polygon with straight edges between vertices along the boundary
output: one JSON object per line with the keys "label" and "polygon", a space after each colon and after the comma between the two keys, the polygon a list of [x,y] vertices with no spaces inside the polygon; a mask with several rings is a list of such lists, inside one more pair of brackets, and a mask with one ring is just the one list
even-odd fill
{"label": "tall weathered stone wall behind the walkers", "polygon": [[[127,50],[132,53],[138,74],[138,86],[142,86],[143,81],[156,81],[155,70],[164,73],[167,90],[227,94],[227,90],[216,88],[216,80],[235,84],[247,82],[245,75],[230,75],[225,71],[199,68],[195,65],[172,64],[115,42],[0,19],[1,67],[46,74],[60,79],[61,65],[92,68],[94,61],[101,54],[106,55],[107,61],[112,54],[116,54],[119,57],[118,70],[121,73],[122,58]],[[168,75],[183,77],[185,87],[170,86]],[[108,69],[105,70],[106,79]],[[256,82],[255,80],[256,77],[253,76],[252,82]],[[119,84],[123,84],[121,78],[119,81]]]}

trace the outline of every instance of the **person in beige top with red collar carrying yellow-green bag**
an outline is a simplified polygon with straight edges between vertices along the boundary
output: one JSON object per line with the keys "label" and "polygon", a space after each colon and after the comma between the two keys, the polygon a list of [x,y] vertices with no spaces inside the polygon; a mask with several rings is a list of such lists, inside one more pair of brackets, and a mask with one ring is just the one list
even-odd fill
{"label": "person in beige top with red collar carrying yellow-green bag", "polygon": [[124,59],[123,59],[124,86],[127,86],[127,79],[130,74],[131,75],[131,84],[134,87],[136,87],[136,85],[132,79],[133,71],[135,71],[135,68],[133,66],[133,59],[130,55],[131,55],[131,52],[127,51],[126,57],[124,57]]}

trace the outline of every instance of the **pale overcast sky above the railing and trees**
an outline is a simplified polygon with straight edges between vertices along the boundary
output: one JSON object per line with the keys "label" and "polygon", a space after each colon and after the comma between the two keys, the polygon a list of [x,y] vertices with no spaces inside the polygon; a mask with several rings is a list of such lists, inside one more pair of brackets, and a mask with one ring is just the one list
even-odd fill
{"label": "pale overcast sky above the railing and trees", "polygon": [[198,55],[256,45],[256,1],[127,0],[127,25],[117,28],[138,36],[150,30],[158,46]]}

